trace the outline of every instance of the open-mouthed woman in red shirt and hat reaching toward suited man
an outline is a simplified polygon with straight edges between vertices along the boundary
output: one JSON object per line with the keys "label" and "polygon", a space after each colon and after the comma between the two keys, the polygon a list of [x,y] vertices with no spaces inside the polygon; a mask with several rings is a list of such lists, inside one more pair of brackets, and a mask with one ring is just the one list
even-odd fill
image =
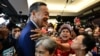
{"label": "open-mouthed woman in red shirt and hat reaching toward suited man", "polygon": [[70,28],[67,24],[63,24],[59,29],[59,37],[54,39],[58,45],[54,56],[69,56],[69,54],[74,53],[70,47],[71,38]]}

